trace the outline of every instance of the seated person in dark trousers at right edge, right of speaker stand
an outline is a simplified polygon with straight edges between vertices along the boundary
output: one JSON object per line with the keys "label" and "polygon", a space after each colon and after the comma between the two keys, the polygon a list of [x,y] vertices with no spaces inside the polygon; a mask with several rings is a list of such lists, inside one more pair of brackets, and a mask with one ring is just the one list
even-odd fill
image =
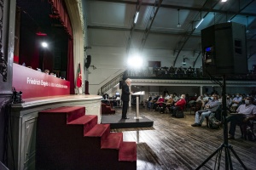
{"label": "seated person in dark trousers at right edge, right of speaker stand", "polygon": [[236,112],[227,118],[230,122],[229,139],[235,139],[236,125],[256,118],[256,105],[253,105],[253,97],[247,97],[244,105],[240,105]]}

